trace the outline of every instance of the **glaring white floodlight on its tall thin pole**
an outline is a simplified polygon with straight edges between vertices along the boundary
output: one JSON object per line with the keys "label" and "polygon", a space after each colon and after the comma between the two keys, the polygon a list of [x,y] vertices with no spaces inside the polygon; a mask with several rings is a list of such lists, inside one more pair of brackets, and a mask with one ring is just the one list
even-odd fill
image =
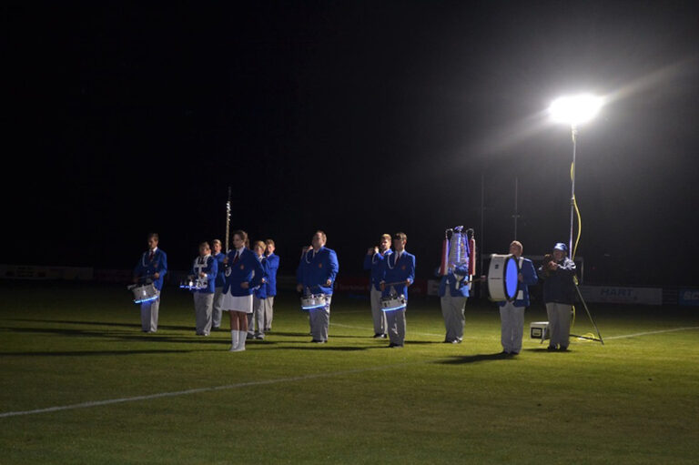
{"label": "glaring white floodlight on its tall thin pole", "polygon": [[602,108],[603,99],[591,94],[577,96],[562,96],[555,99],[549,106],[549,115],[555,123],[563,123],[571,126],[572,137],[572,165],[571,165],[571,236],[568,242],[568,250],[572,257],[572,225],[575,207],[575,154],[577,151],[578,125],[587,123]]}

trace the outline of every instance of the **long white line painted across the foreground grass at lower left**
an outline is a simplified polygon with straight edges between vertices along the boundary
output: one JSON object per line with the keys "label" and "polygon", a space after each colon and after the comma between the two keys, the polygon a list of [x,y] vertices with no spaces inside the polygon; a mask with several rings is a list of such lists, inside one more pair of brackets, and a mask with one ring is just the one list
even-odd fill
{"label": "long white line painted across the foreground grass at lower left", "polygon": [[119,403],[124,403],[124,402],[136,402],[138,400],[150,400],[150,399],[161,399],[161,398],[167,398],[167,397],[187,396],[189,394],[198,394],[200,392],[211,392],[211,391],[215,391],[215,390],[239,389],[239,388],[248,388],[249,386],[264,386],[266,384],[279,384],[279,383],[293,382],[293,381],[305,381],[308,379],[332,378],[332,377],[336,377],[336,376],[351,375],[351,374],[355,374],[355,373],[364,373],[367,371],[376,371],[376,370],[380,370],[380,369],[392,369],[392,368],[405,367],[405,366],[410,366],[410,365],[419,365],[420,363],[428,363],[428,362],[421,361],[421,362],[413,362],[413,363],[397,363],[394,365],[383,365],[380,367],[371,367],[368,369],[347,369],[344,371],[332,371],[329,373],[316,373],[314,375],[295,376],[295,377],[291,377],[291,378],[266,379],[263,381],[248,381],[248,382],[244,382],[244,383],[227,384],[224,386],[214,386],[211,388],[198,388],[198,389],[176,390],[173,392],[160,392],[157,394],[148,394],[146,396],[126,397],[126,398],[121,398],[121,399],[95,400],[92,402],[83,402],[83,403],[79,403],[79,404],[62,405],[62,406],[58,406],[58,407],[48,407],[46,409],[8,411],[5,413],[0,413],[0,419],[4,419],[7,417],[17,417],[20,415],[35,415],[37,413],[49,413],[49,412],[60,411],[60,410],[89,409],[91,407],[100,407],[103,405],[119,404]]}

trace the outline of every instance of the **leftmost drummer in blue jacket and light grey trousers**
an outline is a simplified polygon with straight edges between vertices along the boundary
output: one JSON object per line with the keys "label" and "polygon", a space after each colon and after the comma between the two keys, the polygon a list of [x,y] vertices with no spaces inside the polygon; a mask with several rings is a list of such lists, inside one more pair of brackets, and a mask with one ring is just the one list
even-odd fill
{"label": "leftmost drummer in blue jacket and light grey trousers", "polygon": [[141,329],[146,333],[154,333],[157,331],[157,314],[160,309],[163,278],[167,274],[167,254],[157,248],[159,241],[157,233],[148,234],[147,239],[148,250],[143,253],[134,268],[134,283],[153,282],[156,287],[157,298],[141,303]]}

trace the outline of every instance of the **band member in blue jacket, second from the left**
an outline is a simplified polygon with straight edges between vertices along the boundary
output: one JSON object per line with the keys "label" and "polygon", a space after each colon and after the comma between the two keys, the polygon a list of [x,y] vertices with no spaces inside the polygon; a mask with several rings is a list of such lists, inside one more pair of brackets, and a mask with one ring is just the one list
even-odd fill
{"label": "band member in blue jacket, second from the left", "polygon": [[194,259],[189,277],[197,279],[199,288],[194,292],[194,314],[196,333],[198,336],[208,336],[211,332],[211,311],[214,305],[214,288],[218,274],[218,262],[211,256],[208,242],[199,244],[199,256]]}

